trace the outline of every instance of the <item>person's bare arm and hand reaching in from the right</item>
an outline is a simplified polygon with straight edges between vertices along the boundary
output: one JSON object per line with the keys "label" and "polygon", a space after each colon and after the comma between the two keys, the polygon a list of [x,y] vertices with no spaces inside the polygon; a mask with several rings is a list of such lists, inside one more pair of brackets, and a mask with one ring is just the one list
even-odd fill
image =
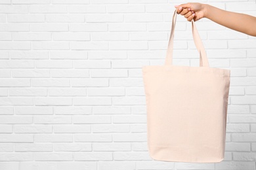
{"label": "person's bare arm and hand reaching in from the right", "polygon": [[[181,9],[182,7],[182,9]],[[184,11],[183,11],[184,10]],[[211,5],[200,3],[186,3],[177,6],[177,13],[182,14],[189,20],[200,20],[201,18],[208,18],[217,24],[224,27],[246,33],[247,35],[256,37],[256,17],[247,14],[240,14],[237,12],[229,12],[218,9]],[[194,14],[195,13],[195,14]],[[194,16],[192,15],[194,14]]]}

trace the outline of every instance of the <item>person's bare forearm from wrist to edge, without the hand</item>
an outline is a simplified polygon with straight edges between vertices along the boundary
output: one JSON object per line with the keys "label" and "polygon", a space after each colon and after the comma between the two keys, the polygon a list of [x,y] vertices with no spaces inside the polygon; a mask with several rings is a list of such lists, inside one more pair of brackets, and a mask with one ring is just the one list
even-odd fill
{"label": "person's bare forearm from wrist to edge, without the hand", "polygon": [[205,18],[230,29],[256,36],[256,17],[229,12],[207,4],[205,4],[205,9]]}

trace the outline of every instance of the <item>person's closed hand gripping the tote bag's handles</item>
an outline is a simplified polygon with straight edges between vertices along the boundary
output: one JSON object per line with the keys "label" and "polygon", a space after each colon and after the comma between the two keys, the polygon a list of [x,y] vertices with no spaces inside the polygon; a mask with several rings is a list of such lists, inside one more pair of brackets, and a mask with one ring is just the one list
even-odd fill
{"label": "person's closed hand gripping the tote bag's handles", "polygon": [[183,15],[189,22],[194,18],[194,21],[200,20],[206,16],[206,5],[202,3],[185,3],[175,5],[177,14]]}

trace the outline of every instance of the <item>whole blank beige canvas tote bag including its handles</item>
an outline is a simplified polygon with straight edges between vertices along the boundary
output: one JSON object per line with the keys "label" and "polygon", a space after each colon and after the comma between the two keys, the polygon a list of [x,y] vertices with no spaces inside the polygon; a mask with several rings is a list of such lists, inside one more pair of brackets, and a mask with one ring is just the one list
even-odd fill
{"label": "whole blank beige canvas tote bag including its handles", "polygon": [[142,66],[150,157],[160,161],[224,160],[230,70],[209,67],[192,20],[200,67],[172,65],[177,12],[164,65]]}

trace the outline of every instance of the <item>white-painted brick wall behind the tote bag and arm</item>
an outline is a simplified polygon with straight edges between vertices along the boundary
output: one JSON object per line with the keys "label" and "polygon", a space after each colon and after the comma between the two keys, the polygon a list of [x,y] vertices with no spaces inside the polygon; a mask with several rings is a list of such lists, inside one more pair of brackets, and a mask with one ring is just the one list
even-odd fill
{"label": "white-painted brick wall behind the tote bag and arm", "polygon": [[[231,70],[221,163],[154,161],[143,65],[163,65],[178,0],[1,0],[0,170],[253,170],[256,39],[196,22],[210,67]],[[200,0],[256,16],[255,0]],[[175,65],[198,66],[177,18]]]}

